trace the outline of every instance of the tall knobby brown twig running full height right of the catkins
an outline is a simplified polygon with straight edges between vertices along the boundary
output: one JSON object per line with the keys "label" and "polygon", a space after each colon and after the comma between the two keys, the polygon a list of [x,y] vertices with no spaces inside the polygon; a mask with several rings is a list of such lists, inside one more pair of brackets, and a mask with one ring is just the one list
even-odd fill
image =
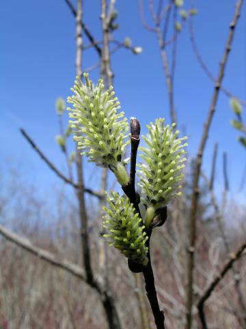
{"label": "tall knobby brown twig running full height right of the catkins", "polygon": [[219,96],[219,90],[221,88],[221,82],[223,80],[223,75],[226,67],[226,62],[228,60],[228,55],[232,46],[232,39],[234,36],[234,31],[236,27],[236,23],[240,16],[241,6],[243,4],[243,0],[238,0],[236,3],[236,10],[234,12],[234,18],[232,23],[230,23],[230,32],[228,36],[228,40],[226,42],[226,49],[223,53],[223,58],[220,63],[219,75],[217,78],[217,82],[215,84],[215,89],[213,92],[213,97],[210,103],[210,108],[208,110],[208,117],[206,119],[206,123],[204,125],[204,131],[202,134],[202,139],[200,141],[200,146],[197,152],[196,160],[195,160],[195,171],[194,171],[194,180],[193,180],[193,193],[191,199],[191,214],[190,214],[190,236],[189,236],[189,248],[188,252],[188,263],[187,263],[187,322],[186,329],[191,328],[192,324],[192,306],[193,306],[193,268],[194,268],[194,255],[195,255],[195,236],[196,236],[196,216],[197,216],[197,202],[200,194],[199,191],[199,178],[200,171],[202,166],[202,156],[204,154],[204,149],[206,146],[206,141],[208,139],[208,131],[210,129],[210,125],[212,123],[213,114],[215,113],[215,107],[217,104],[217,99]]}

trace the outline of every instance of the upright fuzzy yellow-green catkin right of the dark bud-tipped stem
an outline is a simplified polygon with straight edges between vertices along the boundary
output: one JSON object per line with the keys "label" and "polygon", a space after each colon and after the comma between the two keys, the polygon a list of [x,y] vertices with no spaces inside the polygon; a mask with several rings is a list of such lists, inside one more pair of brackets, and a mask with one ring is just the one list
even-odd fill
{"label": "upright fuzzy yellow-green catkin right of the dark bud-tipped stem", "polygon": [[138,170],[139,186],[141,187],[141,203],[146,207],[145,225],[150,226],[154,212],[166,206],[172,197],[182,195],[178,191],[182,186],[186,158],[183,143],[187,137],[178,138],[179,132],[173,132],[175,123],[164,126],[165,119],[156,119],[147,125],[149,134],[143,136],[146,147],[140,147],[143,163]]}

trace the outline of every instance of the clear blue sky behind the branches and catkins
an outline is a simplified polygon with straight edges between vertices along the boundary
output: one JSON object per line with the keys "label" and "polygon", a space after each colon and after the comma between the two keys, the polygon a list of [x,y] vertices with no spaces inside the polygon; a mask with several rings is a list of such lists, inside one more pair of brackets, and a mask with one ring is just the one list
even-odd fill
{"label": "clear blue sky behind the branches and catkins", "polygon": [[[100,1],[84,0],[84,20],[95,38],[100,39]],[[184,1],[184,8],[189,1]],[[199,14],[194,19],[197,44],[207,65],[217,75],[219,60],[228,36],[236,0],[197,0]],[[118,0],[120,29],[115,38],[131,37],[134,45],[143,47],[141,56],[124,49],[113,55],[115,90],[127,117],[141,119],[145,125],[156,117],[169,121],[167,93],[161,56],[154,34],[141,25],[138,1]],[[232,53],[226,67],[224,86],[246,99],[246,8],[236,28]],[[29,182],[40,185],[42,191],[57,184],[57,178],[38,158],[18,132],[24,127],[44,153],[60,169],[66,169],[64,158],[55,144],[58,131],[55,99],[70,95],[74,80],[75,26],[74,17],[64,0],[1,1],[1,76],[0,134],[1,168],[25,164]],[[87,40],[86,40],[87,43]],[[95,51],[83,57],[83,69],[98,61]],[[98,78],[98,71],[92,73]],[[187,27],[178,40],[175,103],[180,127],[189,135],[189,151],[195,155],[208,112],[213,84],[208,80],[191,50]],[[236,140],[237,132],[230,126],[232,112],[229,100],[219,95],[212,129],[210,130],[204,169],[210,170],[213,145],[219,143],[219,158],[228,152],[228,171],[233,193],[246,162],[246,152]],[[87,181],[92,179],[92,167]],[[96,177],[96,175],[94,176]],[[222,183],[221,161],[217,166],[217,186]],[[241,195],[245,197],[245,192]]]}

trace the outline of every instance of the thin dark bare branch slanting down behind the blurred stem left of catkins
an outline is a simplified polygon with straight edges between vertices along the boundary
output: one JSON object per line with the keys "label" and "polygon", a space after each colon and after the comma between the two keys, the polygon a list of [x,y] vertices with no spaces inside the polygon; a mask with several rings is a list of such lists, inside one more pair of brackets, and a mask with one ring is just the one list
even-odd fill
{"label": "thin dark bare branch slanting down behind the blurred stem left of catkins", "polygon": [[[74,182],[72,182],[69,178],[67,178],[63,173],[61,173],[61,171],[59,171],[59,169],[57,169],[57,167],[55,167],[55,165],[53,164],[53,162],[51,162],[51,160],[49,160],[44,153],[40,150],[40,148],[38,147],[38,145],[36,145],[36,143],[34,143],[34,141],[31,139],[31,137],[27,134],[27,132],[23,129],[20,128],[20,132],[21,134],[23,134],[23,136],[25,137],[25,139],[27,140],[27,142],[31,145],[31,147],[33,147],[33,149],[38,153],[38,155],[40,156],[40,158],[42,158],[42,160],[44,160],[44,162],[48,165],[48,167],[54,171],[54,173],[61,178],[61,180],[63,180],[66,184],[71,185],[74,188],[79,188],[79,184],[76,184]],[[98,197],[98,199],[102,198],[102,194],[100,192],[96,192],[93,191],[91,188],[85,188],[85,192],[93,195],[94,197]]]}

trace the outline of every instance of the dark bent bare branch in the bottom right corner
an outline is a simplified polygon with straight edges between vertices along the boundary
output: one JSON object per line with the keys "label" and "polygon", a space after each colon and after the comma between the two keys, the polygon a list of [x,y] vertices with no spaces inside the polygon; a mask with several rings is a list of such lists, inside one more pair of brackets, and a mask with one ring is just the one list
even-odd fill
{"label": "dark bent bare branch in the bottom right corner", "polygon": [[217,275],[214,278],[213,282],[211,282],[210,286],[208,287],[208,289],[206,289],[206,291],[204,292],[204,294],[200,298],[199,302],[197,303],[197,308],[198,308],[200,320],[201,320],[201,323],[202,323],[202,329],[207,329],[208,328],[207,324],[206,324],[206,316],[205,316],[205,313],[204,313],[204,303],[206,302],[208,297],[211,295],[211,293],[213,293],[214,289],[217,287],[217,284],[219,284],[221,279],[226,275],[226,273],[230,269],[232,269],[232,266],[234,265],[234,262],[236,260],[238,260],[239,258],[241,258],[241,256],[243,256],[243,254],[245,252],[245,249],[246,249],[246,243],[243,243],[243,245],[241,245],[241,247],[239,247],[239,249],[236,253],[230,254],[230,260],[228,260],[228,262],[224,265],[224,267],[221,270],[221,272],[219,273],[219,275]]}

